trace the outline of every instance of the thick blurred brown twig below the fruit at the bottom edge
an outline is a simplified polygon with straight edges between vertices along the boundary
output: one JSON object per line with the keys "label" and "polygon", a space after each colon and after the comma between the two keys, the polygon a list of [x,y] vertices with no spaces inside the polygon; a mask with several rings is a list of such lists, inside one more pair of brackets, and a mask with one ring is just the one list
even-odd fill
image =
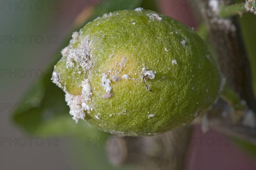
{"label": "thick blurred brown twig below the fruit at the bottom edge", "polygon": [[117,145],[112,141],[107,147],[108,158],[116,166],[133,164],[147,170],[182,170],[189,146],[186,140],[192,130],[192,126],[187,126],[154,136],[116,137]]}

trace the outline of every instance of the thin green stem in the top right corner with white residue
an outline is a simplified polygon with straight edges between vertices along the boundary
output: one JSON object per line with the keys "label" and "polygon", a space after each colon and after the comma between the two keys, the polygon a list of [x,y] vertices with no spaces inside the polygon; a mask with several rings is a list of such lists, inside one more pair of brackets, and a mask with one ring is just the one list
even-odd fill
{"label": "thin green stem in the top right corner with white residue", "polygon": [[245,3],[235,3],[229,6],[225,6],[224,8],[220,8],[218,11],[218,16],[225,18],[236,14],[242,15],[247,12],[256,14],[255,0],[248,0]]}

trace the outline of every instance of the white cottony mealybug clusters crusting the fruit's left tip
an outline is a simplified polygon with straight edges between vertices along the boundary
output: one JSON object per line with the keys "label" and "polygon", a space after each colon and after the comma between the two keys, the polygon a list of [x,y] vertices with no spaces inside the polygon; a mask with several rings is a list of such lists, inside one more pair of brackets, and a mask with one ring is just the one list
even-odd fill
{"label": "white cottony mealybug clusters crusting the fruit's left tip", "polygon": [[[74,67],[76,63],[76,68],[73,69],[79,69],[79,67],[81,67],[84,72],[86,72],[87,69],[92,67],[92,62],[90,61],[91,53],[88,47],[91,42],[85,39],[81,41],[80,46],[73,48],[72,43],[79,39],[79,32],[74,32],[72,38],[73,39],[70,40],[71,45],[64,48],[61,51],[61,54],[67,57],[66,66],[68,69],[70,69],[70,67]],[[77,70],[77,73],[81,74],[81,71]],[[52,73],[52,81],[61,87],[60,74],[58,72],[54,71]],[[66,92],[65,101],[70,107],[70,115],[73,115],[73,119],[76,121],[76,123],[79,119],[84,120],[85,113],[90,113],[90,111],[93,109],[93,107],[88,104],[88,101],[91,101],[92,96],[90,76],[84,81],[81,81],[79,86],[82,87],[81,95],[72,95],[68,93],[64,86],[64,92]],[[63,87],[61,88],[63,89]]]}

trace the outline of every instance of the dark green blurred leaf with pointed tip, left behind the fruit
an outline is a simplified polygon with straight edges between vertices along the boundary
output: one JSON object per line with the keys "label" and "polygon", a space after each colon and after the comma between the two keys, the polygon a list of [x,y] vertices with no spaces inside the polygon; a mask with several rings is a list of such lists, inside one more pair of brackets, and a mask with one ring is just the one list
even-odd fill
{"label": "dark green blurred leaf with pointed tip, left behind the fruit", "polygon": [[[49,65],[53,67],[54,63]],[[14,113],[15,122],[29,133],[37,133],[44,121],[68,114],[64,92],[51,82],[51,73],[50,69],[45,69],[44,76],[28,89],[20,102],[27,106],[26,110],[17,109]]]}

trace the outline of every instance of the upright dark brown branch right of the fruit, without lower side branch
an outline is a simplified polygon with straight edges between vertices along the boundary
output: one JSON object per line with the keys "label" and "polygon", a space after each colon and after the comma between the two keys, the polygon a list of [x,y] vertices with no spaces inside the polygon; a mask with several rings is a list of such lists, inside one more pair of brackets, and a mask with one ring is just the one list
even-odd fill
{"label": "upright dark brown branch right of the fruit, without lower side branch", "polygon": [[[224,4],[230,0],[220,2]],[[250,64],[236,17],[223,19],[206,7],[201,10],[201,13],[210,34],[214,37],[213,45],[220,70],[223,74],[229,72],[227,85],[239,95],[241,100],[246,101],[250,109],[256,112]],[[217,41],[220,37],[224,38],[224,42]]]}

